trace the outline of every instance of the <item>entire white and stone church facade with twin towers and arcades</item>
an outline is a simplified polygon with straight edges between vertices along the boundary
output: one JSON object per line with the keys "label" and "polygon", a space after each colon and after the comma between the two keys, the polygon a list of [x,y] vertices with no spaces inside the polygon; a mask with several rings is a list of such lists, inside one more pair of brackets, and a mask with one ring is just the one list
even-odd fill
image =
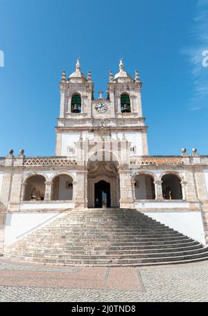
{"label": "entire white and stone church facade with twin towers and arcades", "polygon": [[208,243],[208,156],[193,148],[149,156],[139,72],[110,72],[107,98],[94,99],[80,62],[62,72],[54,157],[0,157],[0,248],[55,216],[91,208],[137,209]]}

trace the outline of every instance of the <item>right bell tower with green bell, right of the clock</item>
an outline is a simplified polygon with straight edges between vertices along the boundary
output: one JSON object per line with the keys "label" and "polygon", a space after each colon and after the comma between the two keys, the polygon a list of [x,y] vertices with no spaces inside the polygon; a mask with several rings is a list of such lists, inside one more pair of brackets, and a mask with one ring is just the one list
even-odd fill
{"label": "right bell tower with green bell, right of the clock", "polygon": [[148,155],[147,127],[144,124],[145,118],[141,106],[141,86],[139,72],[135,71],[135,79],[125,71],[123,61],[119,62],[119,72],[113,75],[110,72],[107,93],[114,108],[114,130],[116,134],[131,142],[130,155]]}

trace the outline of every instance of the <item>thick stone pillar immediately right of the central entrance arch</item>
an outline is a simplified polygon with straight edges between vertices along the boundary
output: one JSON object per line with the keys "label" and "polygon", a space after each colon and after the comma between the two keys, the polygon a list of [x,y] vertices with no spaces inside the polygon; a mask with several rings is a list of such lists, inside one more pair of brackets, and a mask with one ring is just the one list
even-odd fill
{"label": "thick stone pillar immediately right of the central entrance arch", "polygon": [[132,178],[130,170],[119,170],[121,198],[120,207],[134,207],[134,198],[132,193]]}

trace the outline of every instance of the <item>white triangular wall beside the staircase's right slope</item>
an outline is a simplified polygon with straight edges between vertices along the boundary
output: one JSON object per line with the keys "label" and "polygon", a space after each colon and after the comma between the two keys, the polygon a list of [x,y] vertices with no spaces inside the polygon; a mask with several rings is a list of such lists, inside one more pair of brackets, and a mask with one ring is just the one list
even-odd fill
{"label": "white triangular wall beside the staircase's right slope", "polygon": [[143,212],[160,223],[206,245],[200,212]]}

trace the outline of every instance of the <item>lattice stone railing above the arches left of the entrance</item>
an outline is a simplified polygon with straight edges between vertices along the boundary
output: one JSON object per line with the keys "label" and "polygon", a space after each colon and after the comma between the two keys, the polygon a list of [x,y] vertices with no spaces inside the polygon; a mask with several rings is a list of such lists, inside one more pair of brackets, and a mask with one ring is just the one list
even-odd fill
{"label": "lattice stone railing above the arches left of the entrance", "polygon": [[67,157],[27,157],[24,166],[73,166],[77,165],[76,159]]}

